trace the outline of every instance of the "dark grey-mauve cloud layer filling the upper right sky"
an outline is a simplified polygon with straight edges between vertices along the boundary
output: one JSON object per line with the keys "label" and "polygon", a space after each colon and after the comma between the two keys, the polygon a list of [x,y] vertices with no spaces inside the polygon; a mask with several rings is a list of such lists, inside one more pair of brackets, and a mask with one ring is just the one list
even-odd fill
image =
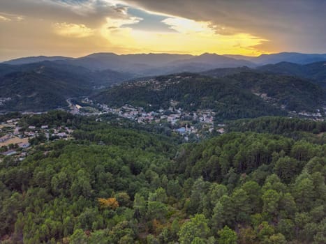
{"label": "dark grey-mauve cloud layer filling the upper right sky", "polygon": [[[326,52],[324,0],[131,0],[147,10],[211,22],[217,33],[251,33],[275,51]],[[221,28],[223,27],[223,29]]]}

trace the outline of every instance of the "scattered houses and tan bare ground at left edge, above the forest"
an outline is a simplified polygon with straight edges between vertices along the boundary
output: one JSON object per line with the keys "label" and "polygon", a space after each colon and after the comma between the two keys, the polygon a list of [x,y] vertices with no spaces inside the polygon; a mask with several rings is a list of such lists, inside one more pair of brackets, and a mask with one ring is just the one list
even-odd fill
{"label": "scattered houses and tan bare ground at left edge, above the forest", "polygon": [[[38,141],[70,139],[73,130],[67,127],[50,128],[49,125],[27,128],[20,126],[20,118],[9,119],[0,123],[0,155],[15,156],[22,161],[28,155],[33,144]],[[0,159],[1,160],[1,159]]]}

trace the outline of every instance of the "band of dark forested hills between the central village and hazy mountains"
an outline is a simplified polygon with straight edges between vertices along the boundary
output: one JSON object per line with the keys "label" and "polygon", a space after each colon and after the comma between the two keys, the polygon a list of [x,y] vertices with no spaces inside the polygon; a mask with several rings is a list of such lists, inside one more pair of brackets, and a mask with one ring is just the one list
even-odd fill
{"label": "band of dark forested hills between the central village and hazy mountains", "polygon": [[[182,70],[177,68],[174,73]],[[84,96],[110,106],[127,103],[148,110],[167,108],[172,99],[187,111],[214,109],[219,120],[284,115],[293,110],[323,111],[326,104],[323,62],[305,66],[278,63],[257,69],[219,68],[201,75],[181,73],[136,79],[111,88],[135,77],[139,75],[93,70],[64,61],[1,63],[0,112],[43,112],[66,107],[68,98]]]}

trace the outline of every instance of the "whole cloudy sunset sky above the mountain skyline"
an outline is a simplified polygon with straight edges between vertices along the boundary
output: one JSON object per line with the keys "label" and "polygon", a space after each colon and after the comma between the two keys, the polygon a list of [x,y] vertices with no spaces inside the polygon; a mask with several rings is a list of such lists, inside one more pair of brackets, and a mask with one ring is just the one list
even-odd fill
{"label": "whole cloudy sunset sky above the mountain skyline", "polygon": [[326,0],[0,0],[0,61],[94,52],[326,53]]}

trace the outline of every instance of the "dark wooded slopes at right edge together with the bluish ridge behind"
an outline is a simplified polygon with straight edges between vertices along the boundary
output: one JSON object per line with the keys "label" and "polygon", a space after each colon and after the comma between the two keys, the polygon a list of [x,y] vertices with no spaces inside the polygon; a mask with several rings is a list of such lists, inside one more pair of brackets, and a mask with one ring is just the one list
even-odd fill
{"label": "dark wooded slopes at right edge together with the bluish ridge behind", "polygon": [[[308,73],[306,67],[320,68],[321,63],[301,66],[295,63],[277,63],[254,69],[218,68],[208,70],[203,75],[219,77],[228,84],[249,89],[256,95],[288,110],[316,111],[325,105],[323,71]],[[316,68],[318,67],[318,68]],[[321,67],[324,69],[325,67]]]}

